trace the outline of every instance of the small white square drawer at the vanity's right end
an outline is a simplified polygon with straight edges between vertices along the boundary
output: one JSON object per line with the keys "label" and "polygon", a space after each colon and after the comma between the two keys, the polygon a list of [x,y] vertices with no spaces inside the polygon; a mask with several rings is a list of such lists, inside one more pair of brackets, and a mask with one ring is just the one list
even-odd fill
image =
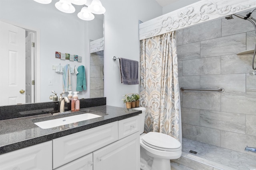
{"label": "small white square drawer at the vanity's right end", "polygon": [[127,137],[140,130],[140,115],[118,121],[118,139]]}

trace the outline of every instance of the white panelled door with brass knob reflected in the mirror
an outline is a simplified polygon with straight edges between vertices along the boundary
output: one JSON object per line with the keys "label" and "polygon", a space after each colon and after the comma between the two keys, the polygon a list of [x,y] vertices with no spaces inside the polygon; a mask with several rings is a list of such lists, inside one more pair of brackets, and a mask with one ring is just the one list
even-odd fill
{"label": "white panelled door with brass knob reflected in the mirror", "polygon": [[0,63],[0,105],[26,103],[25,29],[0,21]]}

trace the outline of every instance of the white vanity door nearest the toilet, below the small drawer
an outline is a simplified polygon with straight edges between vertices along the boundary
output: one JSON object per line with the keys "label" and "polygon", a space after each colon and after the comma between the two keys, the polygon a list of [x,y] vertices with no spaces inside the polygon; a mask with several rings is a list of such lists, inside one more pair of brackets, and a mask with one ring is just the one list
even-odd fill
{"label": "white vanity door nearest the toilet, below the small drawer", "polygon": [[140,134],[134,133],[93,152],[93,170],[139,170]]}

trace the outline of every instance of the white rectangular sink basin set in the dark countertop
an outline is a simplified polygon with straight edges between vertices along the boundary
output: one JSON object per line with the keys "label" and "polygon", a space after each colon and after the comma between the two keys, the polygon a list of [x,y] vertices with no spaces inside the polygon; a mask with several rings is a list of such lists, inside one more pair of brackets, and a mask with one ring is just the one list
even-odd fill
{"label": "white rectangular sink basin set in the dark countertop", "polygon": [[93,119],[93,118],[96,118],[96,117],[101,117],[101,116],[100,115],[95,115],[95,114],[92,114],[92,113],[84,113],[84,114],[80,114],[80,115],[62,117],[62,118],[58,118],[58,119],[39,121],[39,122],[36,122],[34,124],[38,125],[42,129],[49,129],[49,128],[52,128],[52,127],[67,125],[69,123],[75,123],[75,122],[78,122],[78,121]]}

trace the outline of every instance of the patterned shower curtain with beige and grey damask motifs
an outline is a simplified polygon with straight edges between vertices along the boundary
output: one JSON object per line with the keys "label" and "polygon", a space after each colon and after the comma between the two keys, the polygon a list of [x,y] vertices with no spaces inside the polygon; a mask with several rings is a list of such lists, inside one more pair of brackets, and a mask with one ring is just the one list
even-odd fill
{"label": "patterned shower curtain with beige and grey damask motifs", "polygon": [[176,32],[141,43],[140,102],[146,107],[145,133],[160,132],[181,142]]}

